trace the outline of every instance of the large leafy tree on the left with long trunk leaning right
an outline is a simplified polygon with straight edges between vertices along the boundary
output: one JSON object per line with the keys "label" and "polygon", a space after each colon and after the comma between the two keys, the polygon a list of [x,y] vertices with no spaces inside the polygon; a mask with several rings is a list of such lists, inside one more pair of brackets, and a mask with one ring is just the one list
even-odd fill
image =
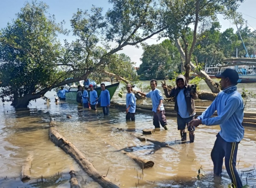
{"label": "large leafy tree on the left with long trunk leaning right", "polygon": [[[109,0],[113,6],[78,10],[71,26],[76,40],[61,45],[65,33],[44,3],[27,3],[17,18],[0,32],[0,87],[2,101],[16,108],[43,97],[47,91],[82,80],[127,45],[139,45],[167,27],[159,23],[154,0]],[[114,48],[112,48],[114,44]],[[72,79],[68,79],[72,78]]]}

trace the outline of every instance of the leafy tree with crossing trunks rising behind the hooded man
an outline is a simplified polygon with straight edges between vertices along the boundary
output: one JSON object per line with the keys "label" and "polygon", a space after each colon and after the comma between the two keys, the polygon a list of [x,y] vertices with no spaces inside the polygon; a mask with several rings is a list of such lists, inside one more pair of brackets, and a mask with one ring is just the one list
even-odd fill
{"label": "leafy tree with crossing trunks rising behind the hooded man", "polygon": [[[240,15],[236,14],[238,2],[243,2],[243,0],[161,0],[162,23],[168,27],[165,36],[175,41],[181,57],[185,60],[186,73],[184,76],[188,80],[192,68],[194,72],[204,78],[213,93],[218,93],[219,88],[204,71],[191,62],[197,41],[197,27],[207,20],[216,21],[217,14],[222,14],[226,18],[233,18],[234,15],[239,17]],[[194,25],[193,39],[192,43],[188,43],[187,33],[191,25]],[[180,39],[183,44],[180,43]]]}

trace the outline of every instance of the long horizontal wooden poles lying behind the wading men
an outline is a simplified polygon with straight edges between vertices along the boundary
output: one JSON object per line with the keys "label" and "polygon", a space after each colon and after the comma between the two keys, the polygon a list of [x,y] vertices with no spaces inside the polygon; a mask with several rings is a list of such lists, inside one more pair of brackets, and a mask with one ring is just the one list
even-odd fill
{"label": "long horizontal wooden poles lying behind the wading men", "polygon": [[[115,107],[125,108],[125,104],[119,104],[117,102],[112,102],[111,105]],[[200,116],[208,106],[195,106],[196,117]],[[174,104],[164,104],[165,115],[166,116],[177,116],[176,111],[174,111]],[[152,113],[152,104],[138,104],[136,105],[136,111]],[[217,116],[217,112],[213,114],[213,116]],[[243,125],[247,126],[256,126],[256,113],[252,113],[249,111],[244,111],[244,119]]]}

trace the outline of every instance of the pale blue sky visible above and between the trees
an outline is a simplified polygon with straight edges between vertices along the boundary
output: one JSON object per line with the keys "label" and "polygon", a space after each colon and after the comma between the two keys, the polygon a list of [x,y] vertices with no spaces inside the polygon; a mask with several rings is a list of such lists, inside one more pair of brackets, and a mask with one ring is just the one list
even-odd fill
{"label": "pale blue sky visible above and between the trees", "polygon": [[[48,12],[54,14],[57,23],[62,20],[66,21],[64,25],[65,28],[71,29],[69,20],[72,18],[72,15],[77,11],[77,9],[89,10],[92,5],[96,7],[103,7],[104,11],[107,11],[111,5],[109,5],[108,0],[41,0],[49,5]],[[26,2],[31,2],[31,0],[0,0],[0,28],[7,26],[8,22],[11,22],[12,19],[16,18],[16,13],[24,7]],[[39,2],[39,0],[38,0]],[[247,25],[251,31],[256,29],[256,0],[244,0],[244,2],[238,8],[238,12],[242,13],[242,16],[247,20]],[[229,27],[233,27],[236,31],[236,25],[232,25],[229,20],[223,20],[222,16],[218,16],[222,28],[221,32],[225,31]],[[239,26],[238,26],[239,27]],[[60,40],[63,40],[63,36],[59,37]],[[65,36],[68,41],[72,41],[74,36],[70,34]],[[161,43],[164,39],[157,41],[156,37],[148,39],[146,43],[155,44]],[[135,48],[134,46],[126,46],[119,53],[124,53],[131,58],[131,61],[136,62],[136,66],[141,64],[140,58],[143,54],[142,48]]]}

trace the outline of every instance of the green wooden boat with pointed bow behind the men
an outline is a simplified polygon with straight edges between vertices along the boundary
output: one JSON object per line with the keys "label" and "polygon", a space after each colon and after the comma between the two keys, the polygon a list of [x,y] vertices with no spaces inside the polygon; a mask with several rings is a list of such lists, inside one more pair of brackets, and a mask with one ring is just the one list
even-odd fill
{"label": "green wooden boat with pointed bow behind the men", "polygon": [[[81,86],[83,86],[82,83],[79,83]],[[117,82],[115,84],[111,84],[111,85],[108,85],[106,86],[105,88],[109,91],[109,94],[110,94],[110,100],[111,98],[113,97],[114,93],[116,92],[116,89],[118,88],[120,82]],[[78,84],[76,83],[75,86],[64,86],[65,89],[70,89],[70,91],[68,93],[66,93],[66,100],[77,100],[77,86]],[[98,97],[100,96],[100,92],[101,92],[101,88],[100,87],[97,87],[95,88],[95,91],[97,91],[97,95]],[[90,90],[88,90],[88,94],[90,95]]]}

